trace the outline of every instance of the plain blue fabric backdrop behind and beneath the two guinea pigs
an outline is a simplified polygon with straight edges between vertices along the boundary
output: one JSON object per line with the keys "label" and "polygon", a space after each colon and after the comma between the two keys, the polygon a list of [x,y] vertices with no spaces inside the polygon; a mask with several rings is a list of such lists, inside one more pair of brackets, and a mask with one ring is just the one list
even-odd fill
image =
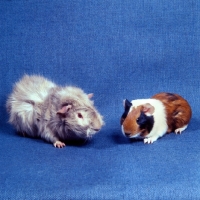
{"label": "plain blue fabric backdrop behind and beneath the two guinea pigs", "polygon": [[[5,102],[24,74],[93,92],[106,125],[63,149],[23,138]],[[199,0],[0,1],[0,199],[200,199]],[[186,98],[182,135],[126,139],[122,101]]]}

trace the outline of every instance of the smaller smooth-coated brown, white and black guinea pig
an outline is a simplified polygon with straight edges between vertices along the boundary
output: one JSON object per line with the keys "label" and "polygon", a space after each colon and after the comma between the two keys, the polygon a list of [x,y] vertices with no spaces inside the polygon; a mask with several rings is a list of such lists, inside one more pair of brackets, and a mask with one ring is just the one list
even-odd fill
{"label": "smaller smooth-coated brown, white and black guinea pig", "polygon": [[189,103],[178,94],[159,93],[150,99],[124,100],[123,134],[153,143],[165,133],[184,131],[192,116]]}

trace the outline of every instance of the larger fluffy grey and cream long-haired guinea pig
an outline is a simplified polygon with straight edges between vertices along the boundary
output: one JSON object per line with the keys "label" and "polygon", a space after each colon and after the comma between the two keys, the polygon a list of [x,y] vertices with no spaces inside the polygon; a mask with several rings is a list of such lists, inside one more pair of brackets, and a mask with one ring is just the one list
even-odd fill
{"label": "larger fluffy grey and cream long-haired guinea pig", "polygon": [[9,122],[23,136],[39,137],[62,148],[68,140],[91,138],[103,126],[92,96],[77,87],[25,75],[7,100]]}

